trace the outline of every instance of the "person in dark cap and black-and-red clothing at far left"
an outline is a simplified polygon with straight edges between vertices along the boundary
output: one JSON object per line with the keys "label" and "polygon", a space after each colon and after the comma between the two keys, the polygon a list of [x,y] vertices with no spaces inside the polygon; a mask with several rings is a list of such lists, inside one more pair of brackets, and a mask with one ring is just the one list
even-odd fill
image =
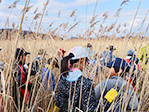
{"label": "person in dark cap and black-and-red clothing at far left", "polygon": [[[25,51],[23,48],[17,48],[13,66],[13,98],[17,108],[20,109],[22,107],[22,102],[26,89],[28,71],[24,68],[24,64],[26,62],[26,56],[28,54],[30,53]],[[29,82],[25,102],[30,102],[32,86],[33,84]]]}

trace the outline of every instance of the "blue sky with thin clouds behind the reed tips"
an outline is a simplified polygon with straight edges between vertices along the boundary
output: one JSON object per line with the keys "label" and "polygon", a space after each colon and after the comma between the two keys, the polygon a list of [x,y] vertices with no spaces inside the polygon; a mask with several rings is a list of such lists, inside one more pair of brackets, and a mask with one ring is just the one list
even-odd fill
{"label": "blue sky with thin clouds behind the reed tips", "polygon": [[[127,4],[124,4],[121,6],[123,8],[120,11],[119,17],[116,19],[114,16],[116,14],[116,11],[120,8],[121,3],[123,0],[98,0],[98,4],[95,11],[95,16],[97,15],[94,22],[99,21],[96,25],[94,25],[93,28],[90,28],[90,20],[93,17],[93,12],[95,9],[97,0],[51,0],[47,6],[46,13],[48,15],[44,15],[41,30],[40,32],[47,32],[50,28],[49,25],[54,22],[54,24],[51,27],[51,30],[54,30],[62,23],[69,23],[68,28],[64,31],[63,29],[59,28],[58,34],[66,34],[66,35],[83,35],[85,31],[93,30],[97,34],[99,30],[99,26],[102,25],[103,27],[110,26],[115,21],[116,26],[120,24],[121,28],[121,35],[123,35],[123,31],[126,30],[126,32],[130,31],[130,27],[134,18],[134,15],[136,13],[136,9],[138,7],[138,4],[140,0],[129,0]],[[9,18],[9,26],[7,24],[6,28],[11,28],[12,23],[15,23],[15,27],[19,25],[20,18],[21,18],[21,11],[23,9],[23,5],[25,3],[25,0],[20,0],[16,8],[8,9],[8,7],[13,4],[15,0],[2,0],[0,3],[0,28],[5,28],[5,23],[7,18]],[[29,27],[32,31],[36,31],[37,29],[34,28],[35,23],[39,23],[40,18],[33,21],[33,18],[35,14],[33,12],[36,8],[38,8],[37,13],[42,13],[43,7],[46,0],[30,0],[30,5],[33,6],[29,12],[26,13],[25,20],[23,23],[23,29],[28,30]],[[149,9],[149,0],[142,0],[140,9],[137,15],[137,18],[134,23],[133,31],[137,32],[138,28],[141,26],[142,21],[146,15],[147,10]],[[73,10],[76,9],[76,12],[73,17],[70,17],[70,14]],[[60,16],[58,17],[58,13],[60,12]],[[105,12],[108,12],[108,18],[105,22],[103,22],[103,14]],[[142,32],[146,30],[148,24],[149,24],[149,16],[147,16],[147,19],[144,23],[144,26],[142,28]],[[33,21],[33,24],[31,22]],[[69,28],[73,26],[76,22],[79,22],[79,24],[73,28],[70,32],[68,32]],[[126,27],[124,27],[124,24],[126,24]],[[109,34],[115,33],[116,31],[113,30]],[[138,31],[140,32],[140,31]]]}

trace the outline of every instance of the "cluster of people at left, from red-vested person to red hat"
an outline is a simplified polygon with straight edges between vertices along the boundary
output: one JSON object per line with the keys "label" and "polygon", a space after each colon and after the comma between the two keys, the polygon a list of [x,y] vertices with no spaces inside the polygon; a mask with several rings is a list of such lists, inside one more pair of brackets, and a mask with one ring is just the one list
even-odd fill
{"label": "cluster of people at left, from red-vested person to red hat", "polygon": [[[60,49],[58,51],[58,58],[49,58],[46,60],[45,56],[47,55],[44,49],[40,49],[38,56],[34,59],[32,63],[26,64],[26,56],[30,53],[27,52],[24,48],[17,48],[15,53],[15,60],[13,64],[13,88],[12,96],[15,101],[17,108],[21,109],[23,99],[25,97],[25,103],[31,103],[31,98],[33,89],[39,89],[42,86],[43,92],[54,91],[55,90],[55,76],[51,72],[54,68],[59,68],[59,58],[63,57],[66,51]],[[40,85],[38,82],[34,86],[32,80],[28,79],[29,66],[31,64],[30,77],[35,77],[38,82],[42,83]],[[49,69],[50,68],[50,69]],[[29,81],[27,83],[27,80]],[[27,85],[27,86],[26,86]],[[25,89],[27,87],[27,93],[25,95]],[[36,91],[37,92],[37,91]],[[19,94],[20,93],[20,94]],[[36,94],[34,94],[36,95]],[[34,102],[34,99],[32,100]]]}

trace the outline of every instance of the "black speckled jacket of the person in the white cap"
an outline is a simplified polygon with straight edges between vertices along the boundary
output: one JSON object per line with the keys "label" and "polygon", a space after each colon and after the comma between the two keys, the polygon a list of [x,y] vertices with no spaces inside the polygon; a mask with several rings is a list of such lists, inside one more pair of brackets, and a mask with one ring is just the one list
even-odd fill
{"label": "black speckled jacket of the person in the white cap", "polygon": [[[83,112],[86,112],[87,107],[88,107],[88,112],[93,112],[95,110],[96,108],[95,90],[92,85],[92,81],[90,79],[86,79],[85,77],[81,76],[77,81],[69,82],[61,76],[58,82],[56,99],[55,99],[56,106],[59,107],[60,112],[68,112],[69,101],[71,106],[73,103],[73,109],[72,109],[73,112],[75,111],[76,107],[79,108],[81,81],[83,82],[82,82],[80,110],[82,110]],[[75,82],[76,82],[76,91],[74,93]],[[71,97],[69,98],[70,87],[71,87]],[[90,94],[90,91],[91,91],[91,94]],[[89,105],[88,105],[88,100],[89,100]],[[69,108],[69,111],[71,110],[71,106]]]}

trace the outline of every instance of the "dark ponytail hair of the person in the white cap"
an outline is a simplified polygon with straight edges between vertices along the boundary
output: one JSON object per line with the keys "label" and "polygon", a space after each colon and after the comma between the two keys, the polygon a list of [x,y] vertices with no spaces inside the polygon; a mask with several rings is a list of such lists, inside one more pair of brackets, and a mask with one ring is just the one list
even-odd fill
{"label": "dark ponytail hair of the person in the white cap", "polygon": [[[68,61],[74,57],[74,55],[72,53],[70,53],[68,56],[64,57],[61,61],[61,73],[63,76],[66,76],[68,74],[69,71],[69,67],[68,67]],[[75,60],[71,60],[70,64],[73,65]],[[72,63],[73,62],[73,63]]]}

